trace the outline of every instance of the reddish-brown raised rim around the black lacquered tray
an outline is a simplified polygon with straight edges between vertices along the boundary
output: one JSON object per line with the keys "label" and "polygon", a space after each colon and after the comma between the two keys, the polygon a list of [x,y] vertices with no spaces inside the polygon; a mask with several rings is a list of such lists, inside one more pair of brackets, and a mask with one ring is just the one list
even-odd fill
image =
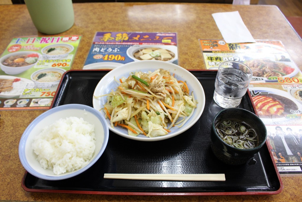
{"label": "reddish-brown raised rim around the black lacquered tray", "polygon": [[[61,86],[62,82],[63,82],[63,78],[65,77],[66,74],[68,74],[69,72],[80,72],[80,71],[110,71],[110,69],[101,69],[101,70],[68,70],[66,71],[63,76],[62,79],[59,83],[59,86]],[[188,71],[204,71],[204,72],[215,72],[217,70],[188,70]],[[55,94],[55,98],[56,95],[59,92],[59,88],[56,91]],[[248,91],[248,95],[249,95],[249,99],[252,100],[252,96]],[[53,108],[53,105],[55,104],[55,99],[53,99],[50,108]],[[252,103],[252,107],[254,109],[254,112],[256,115],[257,112],[255,110],[255,105]],[[22,183],[21,186],[25,191],[28,192],[44,192],[44,193],[67,193],[67,194],[99,194],[99,195],[150,195],[150,196],[157,196],[157,195],[166,195],[166,196],[210,196],[210,195],[272,195],[272,194],[279,194],[281,193],[281,191],[283,190],[283,183],[279,174],[279,171],[277,169],[277,165],[276,163],[273,161],[273,157],[271,155],[271,152],[269,152],[268,150],[268,144],[266,142],[266,149],[267,152],[269,153],[269,156],[271,157],[271,162],[274,165],[275,168],[275,172],[277,174],[278,177],[278,181],[280,183],[280,187],[275,190],[275,191],[240,191],[240,192],[120,192],[120,191],[89,191],[89,190],[52,190],[52,189],[31,189],[26,187],[25,185],[25,178],[28,174],[27,171],[25,171],[24,176],[22,178]]]}

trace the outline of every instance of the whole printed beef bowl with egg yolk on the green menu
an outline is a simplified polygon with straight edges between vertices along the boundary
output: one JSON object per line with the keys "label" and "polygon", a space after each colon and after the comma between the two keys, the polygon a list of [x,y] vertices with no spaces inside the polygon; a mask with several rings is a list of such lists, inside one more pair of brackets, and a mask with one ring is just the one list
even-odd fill
{"label": "whole printed beef bowl with egg yolk on the green menu", "polygon": [[20,74],[32,68],[37,63],[40,56],[40,53],[34,51],[10,53],[0,58],[0,67],[5,74]]}

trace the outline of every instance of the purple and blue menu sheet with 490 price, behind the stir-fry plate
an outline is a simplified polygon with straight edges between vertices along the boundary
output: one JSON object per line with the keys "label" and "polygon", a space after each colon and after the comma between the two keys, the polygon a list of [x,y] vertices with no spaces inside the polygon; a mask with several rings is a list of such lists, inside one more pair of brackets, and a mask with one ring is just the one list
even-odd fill
{"label": "purple and blue menu sheet with 490 price, behind the stir-fry plate", "polygon": [[96,32],[83,69],[113,69],[152,59],[178,64],[176,33]]}

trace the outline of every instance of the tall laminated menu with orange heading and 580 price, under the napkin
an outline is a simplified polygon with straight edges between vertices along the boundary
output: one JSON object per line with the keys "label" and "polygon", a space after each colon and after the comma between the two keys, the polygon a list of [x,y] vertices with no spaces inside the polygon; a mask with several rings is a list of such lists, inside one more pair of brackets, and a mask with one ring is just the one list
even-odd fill
{"label": "tall laminated menu with orange heading and 580 price, under the napkin", "polygon": [[282,42],[199,41],[207,69],[218,69],[223,61],[239,61],[252,69],[249,93],[266,126],[278,171],[281,175],[302,174],[302,74]]}

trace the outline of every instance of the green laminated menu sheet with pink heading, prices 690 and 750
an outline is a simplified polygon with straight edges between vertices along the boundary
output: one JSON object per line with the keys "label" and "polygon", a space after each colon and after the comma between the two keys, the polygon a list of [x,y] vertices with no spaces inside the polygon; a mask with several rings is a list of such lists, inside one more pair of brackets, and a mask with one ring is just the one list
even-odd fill
{"label": "green laminated menu sheet with pink heading, prices 690 and 750", "polygon": [[0,110],[49,109],[81,35],[13,38],[0,58]]}

